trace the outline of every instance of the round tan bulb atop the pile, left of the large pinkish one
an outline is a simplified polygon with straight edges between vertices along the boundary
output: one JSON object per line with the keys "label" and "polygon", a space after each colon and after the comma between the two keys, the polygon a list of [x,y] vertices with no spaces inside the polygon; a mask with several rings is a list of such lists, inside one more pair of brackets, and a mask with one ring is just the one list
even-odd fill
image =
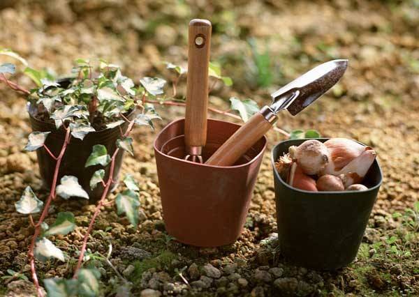
{"label": "round tan bulb atop the pile, left of the large pinkish one", "polygon": [[316,139],[310,139],[300,146],[290,146],[291,158],[297,160],[298,167],[304,174],[314,175],[328,165],[330,153],[328,148]]}

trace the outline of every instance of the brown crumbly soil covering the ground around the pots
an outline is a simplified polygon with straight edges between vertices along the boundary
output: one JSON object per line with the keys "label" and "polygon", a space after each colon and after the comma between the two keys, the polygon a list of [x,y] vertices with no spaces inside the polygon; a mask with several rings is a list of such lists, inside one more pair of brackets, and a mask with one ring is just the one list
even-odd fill
{"label": "brown crumbly soil covering the ground around the pots", "polygon": [[[270,149],[286,137],[272,130],[242,236],[232,245],[195,248],[165,231],[152,149],[155,132],[136,128],[135,157],[125,156],[122,173],[133,174],[140,183],[140,225],[134,229],[117,215],[115,205],[105,206],[88,245],[91,252],[106,254],[111,243],[112,265],[131,287],[122,285],[105,261],[91,260],[101,271],[101,295],[419,294],[418,229],[404,215],[419,196],[417,1],[1,1],[0,40],[34,68],[68,73],[77,58],[101,57],[122,66],[135,82],[154,75],[170,79],[161,62],[186,66],[187,24],[193,17],[212,21],[211,59],[221,63],[223,75],[233,78],[232,87],[216,83],[210,94],[210,103],[219,109],[228,109],[231,96],[265,105],[270,92],[299,73],[321,61],[349,59],[344,79],[332,91],[295,117],[282,112],[278,126],[288,131],[316,129],[325,137],[348,137],[372,146],[383,185],[353,264],[338,271],[292,266],[277,248],[270,164]],[[248,38],[257,41],[259,55],[252,52]],[[260,63],[265,50],[270,57],[266,67]],[[27,77],[17,80],[31,86]],[[181,79],[178,96],[184,91]],[[168,86],[169,96],[171,92]],[[36,153],[23,150],[31,132],[26,102],[3,84],[0,98],[0,295],[30,296],[34,289],[27,247],[33,229],[26,216],[15,212],[14,203],[27,185],[40,199],[47,192]],[[158,112],[163,121],[156,124],[156,132],[183,116],[184,109],[159,106]],[[108,197],[113,199],[115,193]],[[47,223],[60,211],[72,211],[78,225],[71,234],[52,238],[71,260],[37,263],[41,280],[71,276],[94,205],[57,199]],[[8,269],[21,271],[29,282],[7,277]]]}

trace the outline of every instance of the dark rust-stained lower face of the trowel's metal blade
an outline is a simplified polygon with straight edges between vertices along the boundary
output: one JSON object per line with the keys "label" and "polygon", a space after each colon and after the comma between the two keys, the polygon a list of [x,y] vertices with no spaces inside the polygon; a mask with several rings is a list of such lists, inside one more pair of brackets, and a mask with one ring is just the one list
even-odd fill
{"label": "dark rust-stained lower face of the trowel's metal blade", "polygon": [[[291,104],[286,107],[290,114],[295,116],[295,114],[298,114],[302,111],[302,109],[311,105],[314,100],[332,88],[332,86],[339,82],[339,79],[341,79],[341,77],[344,75],[348,66],[348,60],[334,60],[327,63],[333,63],[335,64],[335,67],[331,68],[327,73],[319,75],[316,79],[313,79],[308,84],[300,86],[300,88],[297,89],[299,91],[299,96],[297,96],[297,98],[295,98],[295,100],[293,100],[293,102],[291,102]],[[316,68],[313,70],[316,70]]]}

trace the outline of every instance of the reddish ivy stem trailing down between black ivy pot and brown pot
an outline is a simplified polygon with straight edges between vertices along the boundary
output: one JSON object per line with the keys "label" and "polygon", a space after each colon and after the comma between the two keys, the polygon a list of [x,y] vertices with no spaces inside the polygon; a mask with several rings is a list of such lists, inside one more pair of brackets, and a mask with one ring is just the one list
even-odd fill
{"label": "reddish ivy stem trailing down between black ivy pot and brown pot", "polygon": [[[128,137],[129,133],[134,128],[134,124],[135,124],[134,121],[128,121],[128,123],[129,123],[128,128],[126,128],[126,131],[125,131],[124,135],[122,135],[122,137]],[[89,227],[87,228],[86,234],[84,234],[83,244],[82,244],[82,248],[80,249],[80,255],[79,255],[77,266],[75,267],[75,270],[74,270],[73,278],[77,278],[78,271],[82,267],[84,253],[86,252],[86,247],[87,247],[87,241],[89,240],[89,235],[91,234],[91,231],[93,230],[93,226],[94,226],[94,222],[96,220],[96,217],[101,212],[101,207],[103,206],[103,204],[105,204],[105,198],[108,196],[110,186],[112,185],[112,176],[113,176],[114,171],[115,171],[115,159],[117,158],[118,152],[119,152],[119,148],[115,149],[115,152],[113,153],[112,158],[110,159],[110,169],[109,169],[108,180],[105,182],[105,189],[103,190],[101,199],[99,200],[98,204],[96,205],[96,208],[94,210],[94,213],[93,213],[93,215],[91,217],[91,220],[90,220],[90,223],[89,223]]]}

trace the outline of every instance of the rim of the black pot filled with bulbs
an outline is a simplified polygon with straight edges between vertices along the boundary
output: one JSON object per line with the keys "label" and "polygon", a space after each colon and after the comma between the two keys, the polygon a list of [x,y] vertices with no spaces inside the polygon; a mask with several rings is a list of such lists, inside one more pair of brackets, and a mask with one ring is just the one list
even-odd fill
{"label": "rim of the black pot filled with bulbs", "polygon": [[[315,139],[315,140],[318,140],[318,141],[322,141],[322,140],[323,141],[326,141],[326,140],[328,140],[330,138],[328,138],[328,137],[307,138],[305,140],[309,140],[309,139]],[[351,191],[343,190],[343,191],[318,191],[318,192],[313,192],[313,191],[307,191],[307,190],[297,189],[297,188],[292,187],[291,185],[288,185],[288,183],[286,183],[281,178],[281,176],[279,176],[279,173],[277,171],[277,168],[275,167],[275,162],[277,162],[277,161],[274,160],[274,151],[276,151],[277,146],[279,146],[279,145],[284,145],[284,143],[286,144],[288,142],[289,143],[294,143],[294,142],[301,141],[301,140],[304,140],[304,139],[287,139],[287,140],[284,140],[283,142],[279,142],[277,145],[275,145],[272,148],[272,152],[271,152],[271,163],[272,163],[272,167],[274,169],[274,174],[278,178],[278,180],[280,181],[280,183],[282,183],[282,185],[284,185],[286,188],[288,188],[290,190],[294,190],[295,192],[302,192],[302,193],[311,194],[311,195],[330,195],[330,194],[333,194],[333,195],[344,195],[346,193],[353,193],[353,192],[360,192],[360,193],[370,192],[370,191],[376,190],[377,188],[380,188],[381,183],[383,183],[383,172],[381,171],[380,163],[378,162],[378,160],[376,158],[374,160],[374,162],[376,162],[376,165],[378,166],[378,172],[380,173],[380,178],[379,178],[378,183],[376,183],[376,185],[374,185],[371,188],[368,188],[367,190],[361,190],[361,191],[358,191],[358,190],[351,190]],[[356,141],[354,139],[351,139],[351,140],[353,140],[354,142],[358,142],[358,141]],[[362,146],[367,146],[367,145],[363,144],[362,142],[358,142],[358,144],[362,144]],[[374,163],[373,163],[373,165],[374,165]]]}

